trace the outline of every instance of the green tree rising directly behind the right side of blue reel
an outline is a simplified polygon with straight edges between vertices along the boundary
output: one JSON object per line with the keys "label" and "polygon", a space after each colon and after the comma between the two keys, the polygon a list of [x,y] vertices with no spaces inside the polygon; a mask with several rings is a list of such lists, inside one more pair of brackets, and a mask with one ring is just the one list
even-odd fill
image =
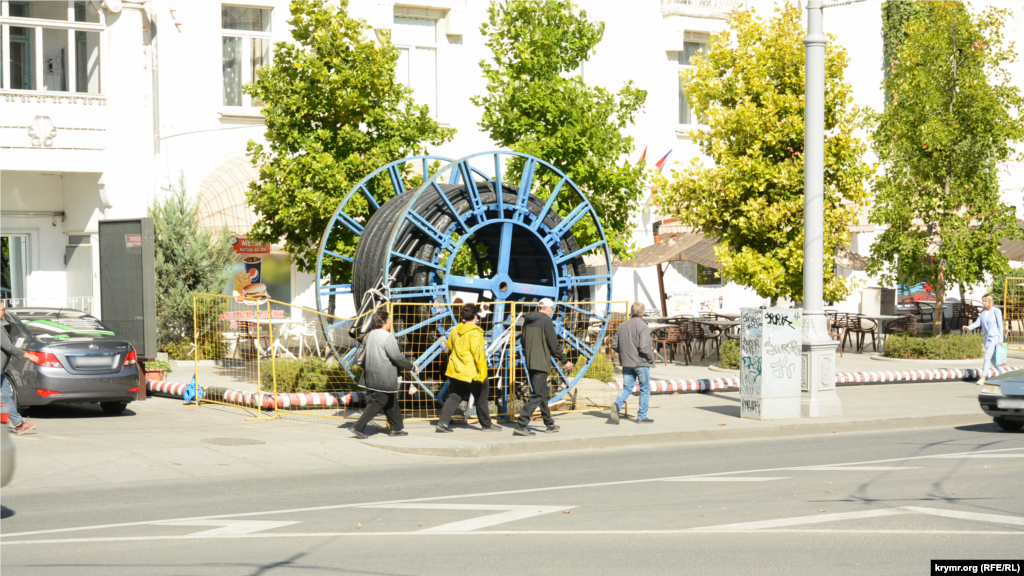
{"label": "green tree rising directly behind the right side of blue reel", "polygon": [[[644,164],[625,161],[633,138],[623,130],[647,99],[647,92],[627,82],[617,93],[588,86],[581,74],[604,35],[604,23],[591,23],[571,0],[492,1],[480,32],[493,61],[480,61],[486,91],[474,96],[483,109],[480,127],[499,145],[546,160],[564,172],[588,196],[615,254],[631,247],[631,215],[640,207]],[[513,160],[509,181],[522,174]],[[555,176],[538,171],[535,193],[542,198]],[[555,209],[566,214],[579,204],[559,196]],[[598,240],[589,218],[573,229],[581,246]]]}

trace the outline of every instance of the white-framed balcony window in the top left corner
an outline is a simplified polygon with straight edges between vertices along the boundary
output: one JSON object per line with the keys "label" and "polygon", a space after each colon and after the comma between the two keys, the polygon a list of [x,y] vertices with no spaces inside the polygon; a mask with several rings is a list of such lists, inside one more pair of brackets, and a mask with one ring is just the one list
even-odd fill
{"label": "white-framed balcony window in the top left corner", "polygon": [[0,87],[100,92],[103,15],[82,0],[0,0]]}

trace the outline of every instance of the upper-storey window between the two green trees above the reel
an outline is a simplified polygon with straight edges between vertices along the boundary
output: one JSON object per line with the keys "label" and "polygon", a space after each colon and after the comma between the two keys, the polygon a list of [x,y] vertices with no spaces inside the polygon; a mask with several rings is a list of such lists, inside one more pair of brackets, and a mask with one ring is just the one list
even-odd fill
{"label": "upper-storey window between the two green trees above the reel", "polygon": [[437,20],[396,15],[391,42],[398,48],[398,82],[437,118]]}

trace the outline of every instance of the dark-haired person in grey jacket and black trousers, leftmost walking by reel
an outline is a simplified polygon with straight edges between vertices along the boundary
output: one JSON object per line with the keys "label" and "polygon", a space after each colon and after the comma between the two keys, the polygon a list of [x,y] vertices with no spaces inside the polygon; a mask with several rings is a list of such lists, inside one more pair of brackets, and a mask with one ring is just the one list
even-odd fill
{"label": "dark-haired person in grey jacket and black trousers, leftmost walking by reel", "polygon": [[355,438],[359,440],[367,438],[367,424],[381,411],[387,417],[390,428],[388,436],[409,436],[402,429],[401,410],[398,409],[397,395],[401,388],[398,369],[412,370],[414,373],[420,369],[401,354],[398,340],[390,330],[390,315],[382,310],[375,312],[370,320],[370,332],[362,340],[362,345],[367,348],[367,361],[362,375],[359,376],[359,387],[370,392],[370,402],[362,410],[362,416],[352,426]]}

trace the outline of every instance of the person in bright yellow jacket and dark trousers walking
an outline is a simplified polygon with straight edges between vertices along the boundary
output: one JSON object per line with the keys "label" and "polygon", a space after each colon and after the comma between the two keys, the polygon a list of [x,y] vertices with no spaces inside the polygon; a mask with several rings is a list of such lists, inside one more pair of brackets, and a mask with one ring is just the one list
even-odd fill
{"label": "person in bright yellow jacket and dark trousers walking", "polygon": [[486,342],[483,329],[477,326],[479,307],[476,304],[463,304],[459,312],[462,323],[452,329],[449,335],[449,368],[444,375],[449,377],[449,397],[441,407],[441,415],[437,419],[437,431],[451,433],[452,415],[462,404],[473,395],[476,405],[476,416],[480,419],[480,427],[484,430],[500,430],[490,421],[487,409],[487,397],[490,387],[487,385],[487,359],[484,354]]}

